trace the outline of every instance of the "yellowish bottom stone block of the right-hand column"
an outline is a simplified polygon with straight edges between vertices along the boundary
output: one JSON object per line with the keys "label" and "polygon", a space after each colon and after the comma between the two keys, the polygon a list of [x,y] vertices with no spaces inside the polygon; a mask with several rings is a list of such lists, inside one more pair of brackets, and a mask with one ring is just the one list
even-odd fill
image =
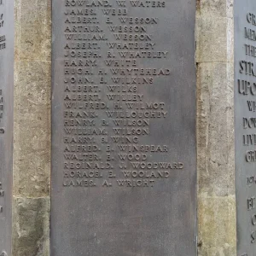
{"label": "yellowish bottom stone block of the right-hand column", "polygon": [[235,195],[199,195],[198,256],[236,255],[235,223]]}

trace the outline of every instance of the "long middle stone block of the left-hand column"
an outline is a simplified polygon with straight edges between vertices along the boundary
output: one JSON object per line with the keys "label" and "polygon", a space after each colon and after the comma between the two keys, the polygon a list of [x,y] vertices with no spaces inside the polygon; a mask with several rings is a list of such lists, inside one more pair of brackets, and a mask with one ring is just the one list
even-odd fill
{"label": "long middle stone block of the left-hand column", "polygon": [[14,193],[49,195],[50,64],[15,63]]}

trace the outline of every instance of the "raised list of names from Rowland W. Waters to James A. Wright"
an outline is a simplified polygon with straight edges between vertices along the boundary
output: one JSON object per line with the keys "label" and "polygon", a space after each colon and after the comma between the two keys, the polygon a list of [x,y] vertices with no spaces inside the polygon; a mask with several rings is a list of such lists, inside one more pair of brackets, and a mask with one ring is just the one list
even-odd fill
{"label": "raised list of names from Rowland W. Waters to James A. Wright", "polygon": [[152,34],[160,18],[130,16],[133,9],[165,6],[65,2],[63,186],[153,187],[182,172],[182,157],[170,160],[168,145],[144,143],[150,127],[168,118],[164,101],[145,97],[172,73],[165,64],[170,53],[159,50]]}

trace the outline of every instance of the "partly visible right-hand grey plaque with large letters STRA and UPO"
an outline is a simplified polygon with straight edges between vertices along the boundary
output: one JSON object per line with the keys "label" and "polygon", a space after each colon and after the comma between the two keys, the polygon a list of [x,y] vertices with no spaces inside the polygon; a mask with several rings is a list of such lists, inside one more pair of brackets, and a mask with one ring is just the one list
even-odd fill
{"label": "partly visible right-hand grey plaque with large letters STRA and UPO", "polygon": [[237,255],[256,255],[256,1],[235,1]]}

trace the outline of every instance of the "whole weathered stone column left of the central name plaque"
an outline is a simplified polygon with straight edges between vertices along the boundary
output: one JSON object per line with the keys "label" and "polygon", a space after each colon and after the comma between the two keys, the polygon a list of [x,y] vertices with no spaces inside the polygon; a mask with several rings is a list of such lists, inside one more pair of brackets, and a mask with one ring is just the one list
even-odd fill
{"label": "whole weathered stone column left of the central name plaque", "polygon": [[13,256],[49,255],[50,20],[50,0],[15,0]]}

